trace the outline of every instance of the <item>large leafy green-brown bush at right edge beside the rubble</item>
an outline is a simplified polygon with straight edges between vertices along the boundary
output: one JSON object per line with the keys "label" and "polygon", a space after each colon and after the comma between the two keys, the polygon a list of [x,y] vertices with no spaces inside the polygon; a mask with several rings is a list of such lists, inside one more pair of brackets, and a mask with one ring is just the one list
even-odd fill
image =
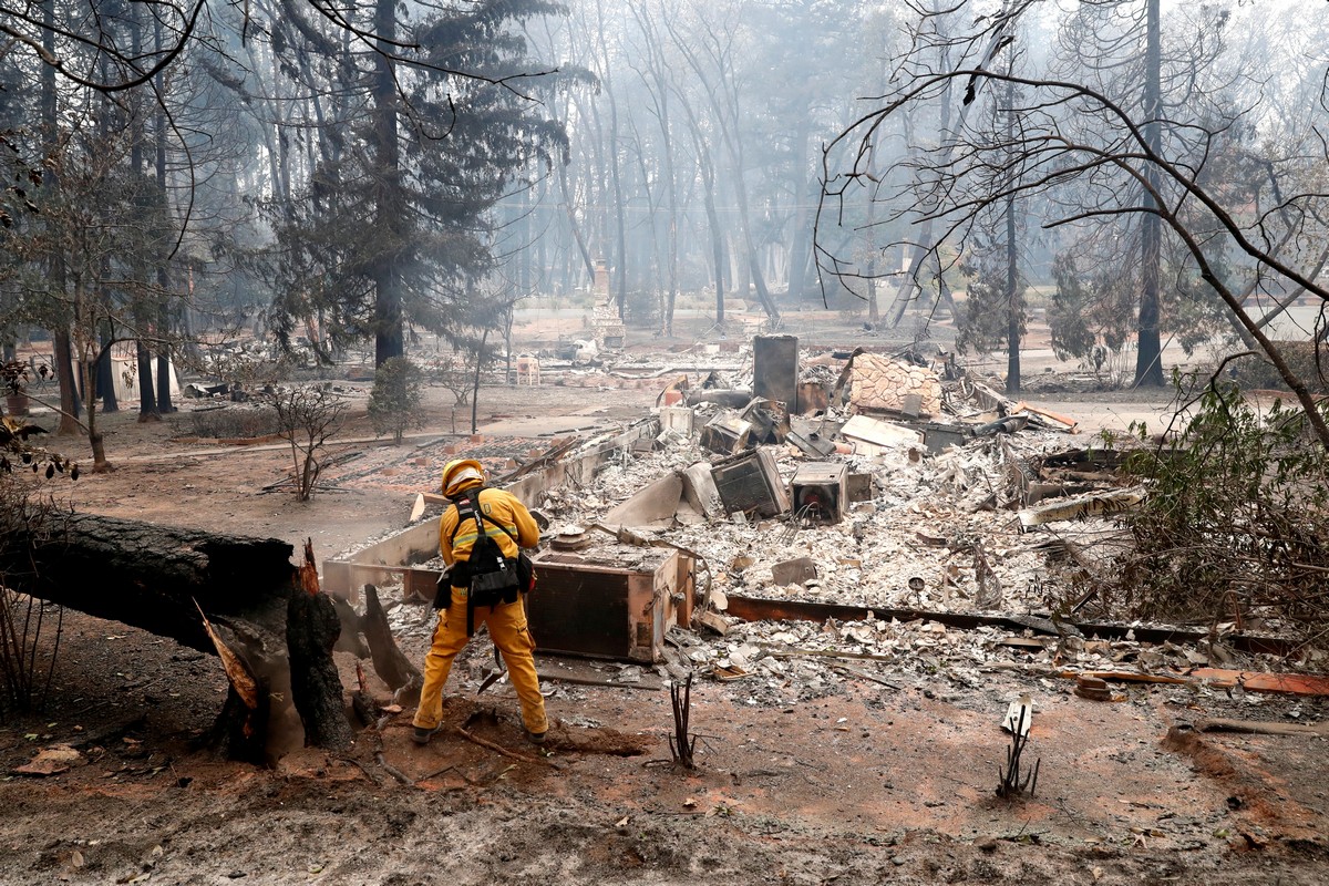
{"label": "large leafy green-brown bush at right edge beside the rubble", "polygon": [[1127,519],[1134,551],[1114,595],[1140,618],[1259,616],[1322,646],[1329,456],[1306,425],[1300,409],[1261,416],[1235,385],[1211,385],[1175,442],[1132,454],[1148,499]]}

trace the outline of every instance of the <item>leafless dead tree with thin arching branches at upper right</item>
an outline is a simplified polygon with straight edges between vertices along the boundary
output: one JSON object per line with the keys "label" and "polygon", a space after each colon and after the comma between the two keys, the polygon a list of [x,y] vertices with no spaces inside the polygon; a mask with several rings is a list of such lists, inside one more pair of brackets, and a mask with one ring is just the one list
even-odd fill
{"label": "leafless dead tree with thin arching branches at upper right", "polygon": [[[1009,43],[1014,16],[1031,7],[1027,1],[1007,3],[998,16],[981,17],[985,29],[966,37],[968,52],[957,49],[961,66],[934,66],[901,77],[896,92],[833,139],[824,151],[819,219],[831,218],[852,185],[869,175],[882,178],[873,171],[872,158],[893,116],[934,98],[950,82],[965,85],[966,108],[991,84],[1013,84],[1021,96],[1010,109],[1019,121],[1014,132],[1007,133],[1003,125],[985,126],[981,116],[969,117],[942,150],[904,155],[888,170],[885,179],[908,181],[889,198],[900,207],[894,218],[926,206],[916,221],[938,224],[936,242],[961,251],[981,213],[1013,195],[1037,199],[1045,228],[1123,217],[1156,221],[1188,258],[1195,278],[1264,351],[1305,410],[1321,446],[1329,448],[1329,425],[1306,384],[1244,303],[1241,287],[1223,270],[1225,256],[1236,255],[1267,284],[1329,302],[1329,288],[1316,276],[1309,252],[1288,254],[1277,246],[1285,226],[1296,226],[1304,238],[1322,236],[1320,219],[1329,218],[1329,195],[1316,187],[1313,177],[1300,179],[1300,187],[1294,186],[1297,179],[1289,179],[1276,189],[1272,205],[1252,214],[1244,190],[1207,174],[1211,165],[1236,150],[1233,133],[1249,122],[1244,109],[1216,109],[1204,122],[1171,124],[1146,118],[1087,82],[995,69],[995,53]],[[901,70],[910,68],[905,62]],[[1326,108],[1329,104],[1321,102],[1313,112],[1325,114]],[[1162,141],[1154,133],[1159,125],[1166,130]],[[941,260],[938,250],[930,246]],[[827,259],[825,251],[819,250],[819,256]],[[836,266],[827,259],[821,267],[833,272]]]}

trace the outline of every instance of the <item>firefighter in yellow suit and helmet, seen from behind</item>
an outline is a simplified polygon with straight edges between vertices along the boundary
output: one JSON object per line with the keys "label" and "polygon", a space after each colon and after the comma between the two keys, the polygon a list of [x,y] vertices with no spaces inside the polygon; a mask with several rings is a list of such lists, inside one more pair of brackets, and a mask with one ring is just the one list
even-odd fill
{"label": "firefighter in yellow suit and helmet, seen from behind", "polygon": [[[439,525],[439,551],[453,574],[459,573],[453,567],[469,559],[472,547],[480,538],[474,519],[462,522],[459,498],[474,501],[485,534],[498,543],[505,558],[516,559],[518,547],[534,547],[540,542],[540,526],[526,506],[501,489],[485,489],[484,482],[484,468],[470,458],[449,461],[443,469],[443,494],[453,499],[453,505],[444,511]],[[489,627],[489,636],[508,665],[508,675],[521,701],[526,736],[536,744],[544,743],[549,720],[545,716],[545,697],[540,695],[540,677],[536,675],[536,643],[526,626],[526,608],[521,595],[517,594],[512,603],[468,607],[469,582],[455,583],[451,590],[451,604],[439,610],[433,643],[424,659],[424,688],[420,689],[412,739],[419,744],[428,744],[443,721],[443,685],[452,671],[452,660],[470,639],[468,616],[473,614],[473,626]]]}

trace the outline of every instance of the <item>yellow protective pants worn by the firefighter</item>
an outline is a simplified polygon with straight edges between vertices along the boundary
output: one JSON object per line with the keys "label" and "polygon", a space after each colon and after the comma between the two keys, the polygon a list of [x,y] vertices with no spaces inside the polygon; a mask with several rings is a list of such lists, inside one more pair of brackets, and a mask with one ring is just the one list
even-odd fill
{"label": "yellow protective pants worn by the firefighter", "polygon": [[[536,676],[536,642],[526,627],[526,608],[521,598],[516,603],[500,603],[493,608],[477,606],[474,627],[489,626],[489,636],[502,654],[517,699],[521,701],[521,721],[526,732],[540,735],[549,729],[545,717],[545,697],[540,695]],[[413,725],[433,729],[443,720],[443,684],[448,681],[452,660],[466,647],[466,591],[452,588],[452,606],[439,610],[439,624],[433,628],[433,644],[424,656],[424,688]]]}

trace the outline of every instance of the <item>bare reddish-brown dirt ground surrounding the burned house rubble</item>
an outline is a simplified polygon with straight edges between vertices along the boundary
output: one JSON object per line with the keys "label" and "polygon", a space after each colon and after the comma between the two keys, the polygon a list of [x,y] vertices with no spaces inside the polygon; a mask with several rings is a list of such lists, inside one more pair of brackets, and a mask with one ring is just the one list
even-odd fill
{"label": "bare reddish-brown dirt ground surrounding the burned house rubble", "polygon": [[[480,424],[490,433],[500,422],[556,432],[629,420],[657,392],[545,385],[533,397],[492,387],[481,393]],[[108,416],[117,469],[64,484],[57,495],[110,515],[295,545],[310,538],[322,561],[405,523],[421,472],[437,468],[413,453],[451,437],[449,401],[432,389],[425,426],[401,446],[373,440],[358,401],[334,446],[346,458],[308,503],[284,489],[260,491],[288,472],[287,449],[185,442],[186,412],[159,424]],[[1120,395],[1041,402],[1094,410],[1104,425],[1124,412],[1156,416],[1162,405]],[[78,441],[56,442],[78,454]],[[53,638],[54,610],[45,618]],[[688,772],[671,764],[670,696],[659,680],[549,681],[557,725],[546,756],[522,740],[510,689],[476,695],[482,662],[472,656],[449,684],[448,728],[428,747],[409,741],[404,711],[359,733],[344,756],[306,749],[263,769],[201,747],[226,692],[214,658],[70,611],[58,638],[43,711],[0,723],[4,883],[1329,878],[1325,739],[1184,728],[1211,716],[1314,723],[1329,716],[1314,700],[1267,697],[1252,713],[1221,695],[1142,685],[1100,703],[1075,696],[1067,681],[1015,671],[973,684],[945,671],[882,669],[869,675],[876,680],[772,708],[742,680],[706,679],[692,688],[698,768]],[[421,660],[419,640],[403,647]],[[1026,764],[1039,760],[1037,792],[1001,800],[994,788],[1009,741],[999,724],[1022,693],[1035,707]],[[62,744],[80,752],[68,770],[15,772]]]}

